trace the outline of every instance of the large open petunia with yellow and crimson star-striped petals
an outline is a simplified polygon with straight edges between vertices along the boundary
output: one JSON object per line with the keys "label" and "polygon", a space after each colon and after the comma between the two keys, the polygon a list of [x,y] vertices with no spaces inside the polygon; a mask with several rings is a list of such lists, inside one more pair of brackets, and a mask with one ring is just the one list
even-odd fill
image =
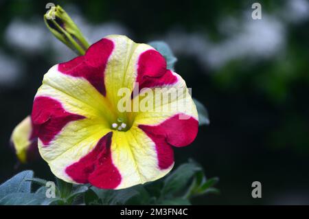
{"label": "large open petunia with yellow and crimson star-striped petals", "polygon": [[[159,88],[184,92],[159,105],[162,93],[155,93],[150,101],[155,110],[119,108],[123,89],[134,105]],[[168,110],[158,110],[162,106]],[[39,152],[58,178],[102,189],[165,176],[174,165],[172,147],[189,145],[198,132],[196,106],[183,78],[166,69],[150,45],[119,35],[49,69],[34,98],[32,121]]]}

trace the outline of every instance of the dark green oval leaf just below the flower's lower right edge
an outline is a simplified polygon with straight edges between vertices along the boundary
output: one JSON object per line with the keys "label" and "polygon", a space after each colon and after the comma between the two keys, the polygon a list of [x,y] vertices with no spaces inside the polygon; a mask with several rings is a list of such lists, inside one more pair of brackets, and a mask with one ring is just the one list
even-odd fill
{"label": "dark green oval leaf just below the flower's lower right edge", "polygon": [[192,176],[201,170],[195,163],[185,163],[180,165],[174,172],[165,178],[162,194],[163,196],[172,195],[179,192],[189,183]]}

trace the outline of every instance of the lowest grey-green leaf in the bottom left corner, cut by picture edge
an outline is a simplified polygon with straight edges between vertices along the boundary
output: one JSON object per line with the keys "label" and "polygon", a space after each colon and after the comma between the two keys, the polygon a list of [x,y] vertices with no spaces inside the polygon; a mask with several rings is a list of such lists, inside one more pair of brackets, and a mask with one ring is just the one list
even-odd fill
{"label": "lowest grey-green leaf in the bottom left corner, cut by picture edge", "polygon": [[42,194],[15,192],[0,199],[0,205],[41,205],[45,200]]}

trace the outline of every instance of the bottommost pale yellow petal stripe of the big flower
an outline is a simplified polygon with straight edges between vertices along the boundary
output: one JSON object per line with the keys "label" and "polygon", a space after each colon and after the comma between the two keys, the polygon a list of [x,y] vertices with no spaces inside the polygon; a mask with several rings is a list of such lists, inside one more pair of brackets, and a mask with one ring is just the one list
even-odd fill
{"label": "bottommost pale yellow petal stripe of the big flower", "polygon": [[127,132],[114,132],[111,154],[115,167],[122,176],[116,189],[155,181],[168,174],[174,165],[174,154],[170,146],[162,146],[168,166],[159,168],[155,143],[139,128]]}

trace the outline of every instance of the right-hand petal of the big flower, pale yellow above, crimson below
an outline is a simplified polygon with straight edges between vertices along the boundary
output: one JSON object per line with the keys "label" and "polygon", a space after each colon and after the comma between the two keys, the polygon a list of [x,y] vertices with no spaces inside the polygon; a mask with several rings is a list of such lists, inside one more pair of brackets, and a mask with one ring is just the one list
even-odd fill
{"label": "right-hand petal of the big flower, pale yellow above, crimson below", "polygon": [[[176,73],[173,74],[177,81],[172,85],[161,87],[165,89],[165,91],[161,91],[163,93],[152,89],[153,100],[151,102],[155,105],[153,110],[138,111],[132,115],[134,126],[143,130],[155,144],[158,165],[161,170],[169,168],[173,163],[172,155],[170,155],[172,154],[172,146],[189,145],[194,141],[198,132],[196,106],[185,81]],[[172,95],[168,95],[169,93]],[[142,92],[139,94],[139,97],[141,96],[143,96]]]}

